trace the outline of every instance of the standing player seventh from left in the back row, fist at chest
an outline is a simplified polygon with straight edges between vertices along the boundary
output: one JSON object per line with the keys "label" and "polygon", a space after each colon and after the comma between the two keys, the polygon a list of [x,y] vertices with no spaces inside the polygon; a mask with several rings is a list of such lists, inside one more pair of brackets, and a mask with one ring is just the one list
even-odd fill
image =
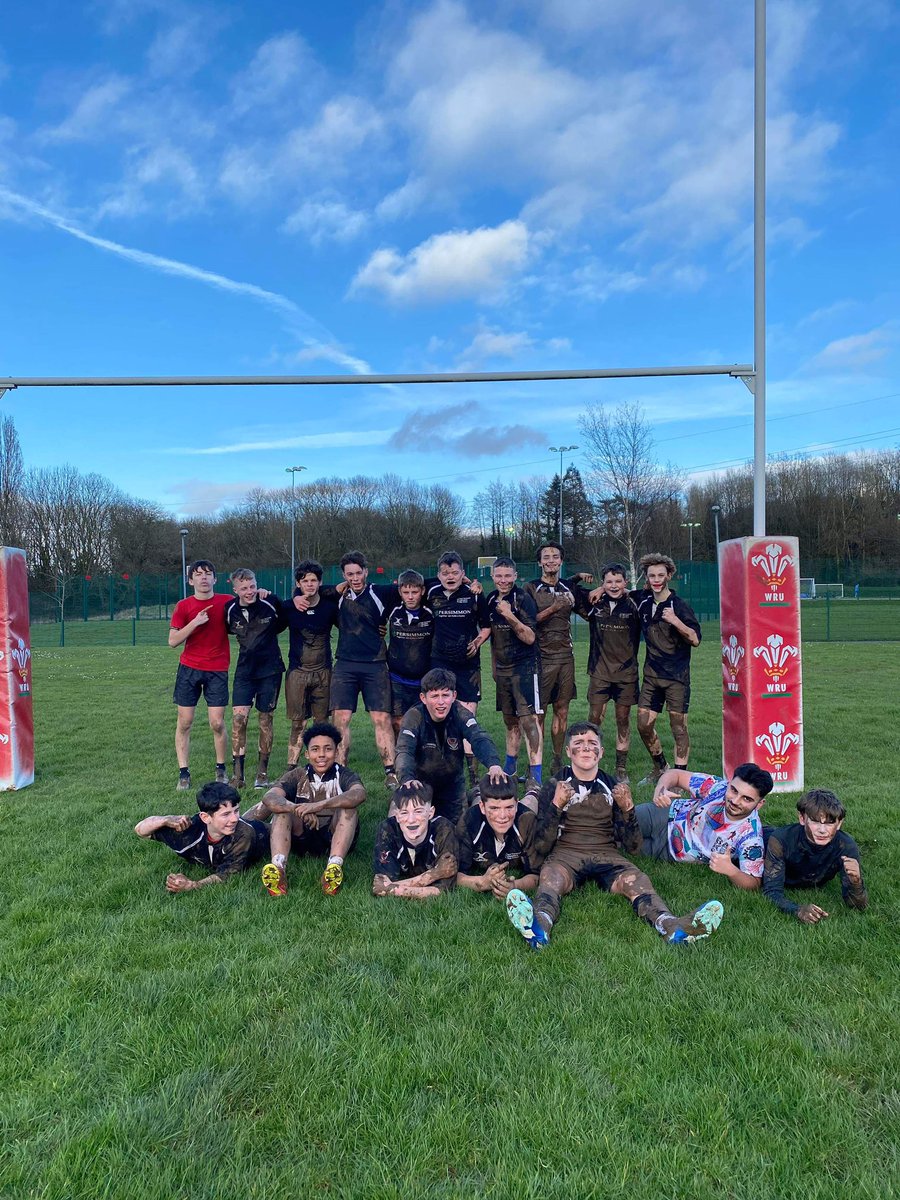
{"label": "standing player seventh from left in the back row, fist at chest", "polygon": [[534,600],[516,586],[518,574],[511,558],[494,559],[491,568],[494,590],[487,598],[491,619],[491,654],[497,683],[497,712],[506,726],[508,775],[516,774],[516,758],[524,734],[530,776],[541,780],[544,731],[538,714],[540,702],[540,655],[538,650],[538,608]]}

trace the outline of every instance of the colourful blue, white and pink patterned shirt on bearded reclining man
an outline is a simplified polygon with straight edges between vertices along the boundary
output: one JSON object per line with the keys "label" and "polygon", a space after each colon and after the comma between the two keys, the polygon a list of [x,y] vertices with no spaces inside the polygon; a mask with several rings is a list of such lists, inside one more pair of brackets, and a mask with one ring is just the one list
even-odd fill
{"label": "colourful blue, white and pink patterned shirt on bearded reclining man", "polygon": [[668,848],[678,863],[708,863],[712,854],[737,858],[745,875],[762,878],[762,826],[756,812],[739,821],[725,815],[727,779],[691,775],[689,792],[668,808]]}

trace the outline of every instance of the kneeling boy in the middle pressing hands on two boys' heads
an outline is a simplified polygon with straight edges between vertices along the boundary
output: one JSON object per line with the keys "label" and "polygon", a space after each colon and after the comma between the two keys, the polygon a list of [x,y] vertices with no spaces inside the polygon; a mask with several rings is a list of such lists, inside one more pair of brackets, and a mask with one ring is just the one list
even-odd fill
{"label": "kneeling boy in the middle pressing hands on two boys' heads", "polygon": [[505,782],[497,748],[472,713],[457,702],[452,671],[443,667],[428,671],[421,682],[419,702],[406,713],[397,734],[397,775],[401,784],[428,784],[434,811],[454,824],[466,799],[467,742],[488,776]]}

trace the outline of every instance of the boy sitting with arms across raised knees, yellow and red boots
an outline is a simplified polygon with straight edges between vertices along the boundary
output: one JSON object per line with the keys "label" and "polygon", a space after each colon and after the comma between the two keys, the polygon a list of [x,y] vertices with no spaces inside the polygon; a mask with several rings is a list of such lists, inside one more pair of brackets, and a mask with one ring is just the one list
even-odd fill
{"label": "boy sitting with arms across raised knees, yellow and red boots", "polygon": [[247,816],[271,816],[271,862],[263,868],[269,895],[288,890],[287,866],[295,854],[328,854],[322,890],[332,896],[343,884],[343,860],[356,845],[359,806],[366,788],[359,775],[337,762],[341,733],[328,721],[317,721],[304,732],[306,767],[287,772],[252,808]]}

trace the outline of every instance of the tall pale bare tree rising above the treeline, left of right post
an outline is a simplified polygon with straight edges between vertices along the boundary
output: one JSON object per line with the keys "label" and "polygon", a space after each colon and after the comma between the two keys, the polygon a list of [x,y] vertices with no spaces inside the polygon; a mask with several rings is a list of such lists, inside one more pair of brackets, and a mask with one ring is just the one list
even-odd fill
{"label": "tall pale bare tree rising above the treeline, left of right post", "polygon": [[673,468],[656,462],[649,422],[635,401],[619,404],[613,413],[600,401],[590,401],[578,418],[578,427],[586,443],[594,505],[607,502],[608,533],[624,551],[631,578],[636,580],[642,536],[656,506],[677,497],[680,480]]}

